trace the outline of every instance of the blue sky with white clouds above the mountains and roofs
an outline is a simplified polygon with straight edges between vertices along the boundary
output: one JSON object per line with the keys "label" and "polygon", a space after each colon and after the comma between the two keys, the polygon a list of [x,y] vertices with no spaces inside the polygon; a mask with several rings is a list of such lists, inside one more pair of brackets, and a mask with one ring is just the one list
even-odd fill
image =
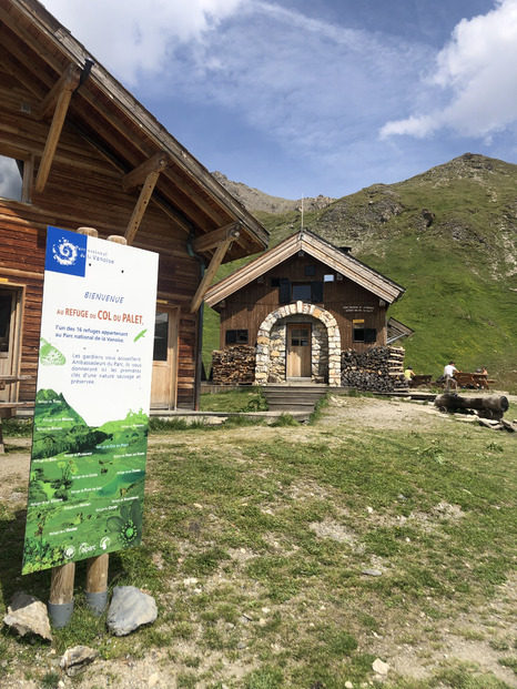
{"label": "blue sky with white clouds above the mountains and roofs", "polygon": [[517,0],[43,0],[210,171],[339,197],[517,163]]}

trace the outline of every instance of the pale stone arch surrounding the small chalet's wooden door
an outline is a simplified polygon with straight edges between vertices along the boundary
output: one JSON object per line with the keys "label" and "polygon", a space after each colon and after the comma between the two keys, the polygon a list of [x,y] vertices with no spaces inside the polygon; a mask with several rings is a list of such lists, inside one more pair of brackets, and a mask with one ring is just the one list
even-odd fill
{"label": "pale stone arch surrounding the small chalet's wooden door", "polygon": [[313,324],[311,379],[339,387],[341,335],[336,320],[328,311],[305,302],[281,306],[262,322],[256,340],[255,383],[266,385],[273,379],[285,382],[287,324],[297,322]]}

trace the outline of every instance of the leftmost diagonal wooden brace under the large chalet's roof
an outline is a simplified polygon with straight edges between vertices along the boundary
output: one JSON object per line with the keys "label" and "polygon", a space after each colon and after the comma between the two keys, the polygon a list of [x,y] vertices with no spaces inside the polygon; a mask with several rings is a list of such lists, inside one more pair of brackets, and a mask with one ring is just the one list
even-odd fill
{"label": "leftmost diagonal wooden brace under the large chalet's roof", "polygon": [[41,103],[40,116],[45,116],[52,109],[53,116],[38,169],[38,176],[36,178],[34,191],[37,193],[41,193],[47,184],[70,101],[72,100],[72,92],[79,83],[80,75],[81,70],[77,65],[71,64]]}

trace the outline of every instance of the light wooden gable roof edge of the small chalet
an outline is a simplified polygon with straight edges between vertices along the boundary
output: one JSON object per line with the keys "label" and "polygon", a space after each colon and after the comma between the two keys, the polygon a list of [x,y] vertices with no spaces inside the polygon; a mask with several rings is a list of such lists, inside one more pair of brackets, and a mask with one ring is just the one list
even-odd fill
{"label": "light wooden gable roof edge of the small chalet", "polygon": [[253,282],[276,265],[283,263],[295,253],[304,251],[321,261],[336,273],[341,273],[358,285],[365,287],[388,304],[399,298],[405,288],[368,267],[348,253],[333,246],[316,234],[306,230],[293,234],[270,251],[266,251],[251,263],[239,268],[221,282],[213,285],[205,296],[209,306],[216,305],[224,298]]}

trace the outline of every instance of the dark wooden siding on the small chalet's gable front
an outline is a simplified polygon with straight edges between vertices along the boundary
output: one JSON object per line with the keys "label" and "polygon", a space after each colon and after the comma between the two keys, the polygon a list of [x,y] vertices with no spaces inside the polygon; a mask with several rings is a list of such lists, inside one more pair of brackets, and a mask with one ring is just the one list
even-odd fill
{"label": "dark wooden siding on the small chalet's gable front", "polygon": [[[305,276],[305,266],[315,268],[315,274]],[[371,346],[386,344],[386,306],[379,305],[379,298],[351,280],[336,280],[336,274],[327,265],[311,256],[293,256],[275,266],[261,278],[249,283],[224,300],[224,306],[217,308],[221,314],[220,346],[225,348],[225,334],[229,330],[247,330],[249,344],[256,343],[258,328],[264,318],[282,306],[280,288],[271,285],[272,278],[287,278],[291,283],[323,282],[325,275],[334,275],[334,282],[323,285],[323,302],[320,306],[328,311],[335,318],[342,338],[342,348],[367,349]],[[357,311],[348,311],[356,306]],[[365,312],[363,308],[367,308]],[[295,316],[293,316],[295,318]],[[377,331],[376,342],[364,344],[353,342],[353,320],[364,318],[364,327]]]}

